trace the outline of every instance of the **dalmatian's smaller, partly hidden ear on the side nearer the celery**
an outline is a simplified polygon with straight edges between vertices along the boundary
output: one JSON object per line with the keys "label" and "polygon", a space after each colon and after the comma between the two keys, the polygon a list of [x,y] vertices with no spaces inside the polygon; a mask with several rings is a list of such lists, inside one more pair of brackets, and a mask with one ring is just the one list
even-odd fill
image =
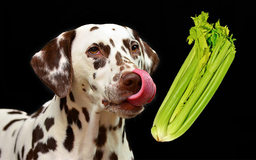
{"label": "dalmatian's smaller, partly hidden ear on the side nearer the celery", "polygon": [[142,41],[136,31],[132,30],[132,33],[135,39],[139,41],[141,46],[142,54],[145,61],[143,70],[147,71],[150,75],[152,75],[159,63],[159,58],[156,52],[152,48],[150,48],[146,42]]}

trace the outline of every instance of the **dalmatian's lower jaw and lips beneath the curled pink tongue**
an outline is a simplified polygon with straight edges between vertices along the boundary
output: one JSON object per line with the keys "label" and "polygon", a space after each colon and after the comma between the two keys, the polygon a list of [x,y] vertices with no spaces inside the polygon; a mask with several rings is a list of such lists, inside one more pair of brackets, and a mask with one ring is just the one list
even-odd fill
{"label": "dalmatian's lower jaw and lips beneath the curled pink tongue", "polygon": [[108,100],[102,100],[102,104],[110,113],[114,113],[122,118],[135,117],[144,110],[143,106],[134,106],[126,100],[118,104],[109,102]]}

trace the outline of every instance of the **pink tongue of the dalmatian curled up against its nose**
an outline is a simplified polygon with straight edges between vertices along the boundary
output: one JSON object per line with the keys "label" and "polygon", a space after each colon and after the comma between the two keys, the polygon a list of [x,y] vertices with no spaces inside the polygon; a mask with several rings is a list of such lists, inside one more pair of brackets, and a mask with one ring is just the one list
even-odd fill
{"label": "pink tongue of the dalmatian curled up against its nose", "polygon": [[128,97],[126,101],[134,106],[142,106],[153,100],[156,94],[156,84],[153,82],[148,72],[138,68],[134,69],[133,72],[140,75],[142,84],[140,91]]}

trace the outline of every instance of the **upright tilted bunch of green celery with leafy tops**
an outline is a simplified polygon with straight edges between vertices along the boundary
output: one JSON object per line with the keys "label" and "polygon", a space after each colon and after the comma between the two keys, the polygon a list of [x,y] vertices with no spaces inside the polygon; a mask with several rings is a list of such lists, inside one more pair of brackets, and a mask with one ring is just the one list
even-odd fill
{"label": "upright tilted bunch of green celery with leafy tops", "polygon": [[212,98],[235,57],[228,27],[207,22],[208,13],[191,17],[188,44],[195,42],[160,106],[151,134],[157,141],[171,141],[188,130]]}

